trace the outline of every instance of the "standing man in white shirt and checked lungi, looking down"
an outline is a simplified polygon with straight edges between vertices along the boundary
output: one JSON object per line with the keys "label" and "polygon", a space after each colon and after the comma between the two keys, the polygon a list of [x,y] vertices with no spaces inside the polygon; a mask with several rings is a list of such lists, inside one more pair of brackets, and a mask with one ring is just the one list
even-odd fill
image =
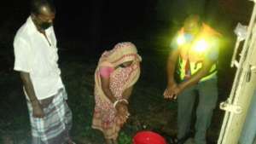
{"label": "standing man in white shirt and checked lungi, looking down", "polygon": [[15,71],[20,72],[32,126],[32,144],[72,144],[72,112],[57,64],[49,0],[32,0],[32,13],[15,35]]}

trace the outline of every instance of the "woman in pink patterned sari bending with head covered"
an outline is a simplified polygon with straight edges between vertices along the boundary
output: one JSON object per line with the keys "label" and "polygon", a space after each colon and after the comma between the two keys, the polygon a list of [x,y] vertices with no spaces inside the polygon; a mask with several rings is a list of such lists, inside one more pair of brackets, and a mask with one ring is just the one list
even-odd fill
{"label": "woman in pink patterned sari bending with head covered", "polygon": [[129,97],[140,76],[141,60],[136,46],[124,42],[105,51],[98,62],[92,128],[102,131],[107,144],[118,144],[119,130],[130,115]]}

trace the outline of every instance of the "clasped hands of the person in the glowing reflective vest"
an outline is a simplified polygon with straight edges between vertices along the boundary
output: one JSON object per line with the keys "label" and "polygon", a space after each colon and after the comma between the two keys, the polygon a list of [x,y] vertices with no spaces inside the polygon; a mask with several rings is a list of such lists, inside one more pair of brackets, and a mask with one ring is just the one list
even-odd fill
{"label": "clasped hands of the person in the glowing reflective vest", "polygon": [[170,100],[176,100],[177,95],[182,91],[180,86],[176,83],[169,84],[164,92],[164,98]]}

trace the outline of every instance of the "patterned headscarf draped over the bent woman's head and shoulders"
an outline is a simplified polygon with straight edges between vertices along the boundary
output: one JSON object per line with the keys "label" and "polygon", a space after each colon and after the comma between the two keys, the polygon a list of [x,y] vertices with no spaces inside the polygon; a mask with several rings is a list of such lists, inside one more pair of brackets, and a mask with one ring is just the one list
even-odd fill
{"label": "patterned headscarf draped over the bent woman's head and shoulders", "polygon": [[[100,95],[102,99],[108,99],[107,96],[102,91],[101,77],[99,74],[99,69],[101,66],[112,66],[115,67],[114,72],[119,72],[119,65],[124,62],[132,61],[131,66],[133,67],[133,72],[125,84],[125,88],[129,88],[131,85],[137,82],[140,75],[140,62],[142,58],[137,54],[136,46],[131,42],[117,43],[112,50],[105,51],[99,60],[98,66],[95,73],[96,82],[96,93]],[[113,73],[114,73],[113,72]]]}

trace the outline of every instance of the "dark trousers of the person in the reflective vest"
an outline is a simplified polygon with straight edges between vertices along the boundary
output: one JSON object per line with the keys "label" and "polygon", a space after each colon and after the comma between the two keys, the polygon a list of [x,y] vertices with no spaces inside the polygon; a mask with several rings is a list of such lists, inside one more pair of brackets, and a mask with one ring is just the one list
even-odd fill
{"label": "dark trousers of the person in the reflective vest", "polygon": [[211,124],[212,111],[218,100],[217,78],[212,78],[192,86],[177,96],[177,138],[188,135],[195,98],[199,96],[196,107],[195,143],[206,144],[207,129]]}

